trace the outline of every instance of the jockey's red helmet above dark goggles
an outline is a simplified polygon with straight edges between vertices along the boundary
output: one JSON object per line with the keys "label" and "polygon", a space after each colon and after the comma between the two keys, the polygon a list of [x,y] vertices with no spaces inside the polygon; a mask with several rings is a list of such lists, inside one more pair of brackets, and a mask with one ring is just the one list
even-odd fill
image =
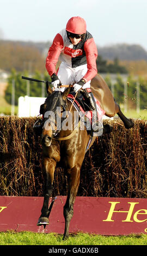
{"label": "jockey's red helmet above dark goggles", "polygon": [[66,25],[66,31],[78,35],[86,33],[86,28],[87,26],[85,20],[78,16],[72,17]]}

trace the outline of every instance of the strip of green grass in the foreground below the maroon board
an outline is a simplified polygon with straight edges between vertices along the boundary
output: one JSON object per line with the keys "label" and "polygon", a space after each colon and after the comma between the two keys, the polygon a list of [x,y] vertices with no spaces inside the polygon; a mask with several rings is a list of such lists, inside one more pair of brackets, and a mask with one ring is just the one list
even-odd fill
{"label": "strip of green grass in the foreground below the maroon board", "polygon": [[42,234],[28,231],[7,231],[0,233],[0,245],[147,245],[147,235],[102,236],[84,233],[70,234],[63,241],[63,235]]}

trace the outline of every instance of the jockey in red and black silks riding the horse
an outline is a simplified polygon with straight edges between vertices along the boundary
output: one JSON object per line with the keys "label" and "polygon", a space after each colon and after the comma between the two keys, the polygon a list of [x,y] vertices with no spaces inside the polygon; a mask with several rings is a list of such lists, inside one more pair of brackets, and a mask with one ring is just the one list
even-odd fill
{"label": "jockey in red and black silks riding the horse", "polygon": [[[52,79],[52,86],[74,84],[74,91],[82,89],[93,111],[93,130],[97,132],[99,120],[96,103],[90,89],[90,81],[97,74],[97,48],[93,36],[87,31],[87,25],[81,17],[71,17],[66,29],[54,38],[46,58],[46,69]],[[56,64],[61,64],[56,72]],[[63,91],[65,87],[61,90]],[[94,127],[97,127],[94,129]]]}

